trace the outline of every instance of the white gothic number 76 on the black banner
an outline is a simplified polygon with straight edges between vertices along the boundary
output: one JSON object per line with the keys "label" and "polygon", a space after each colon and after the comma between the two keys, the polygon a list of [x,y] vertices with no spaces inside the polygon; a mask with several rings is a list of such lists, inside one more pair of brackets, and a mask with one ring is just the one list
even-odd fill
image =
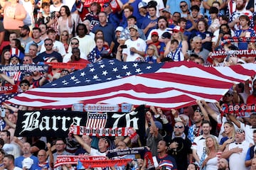
{"label": "white gothic number 76 on the black banner", "polygon": [[[122,117],[124,117],[124,115],[125,115],[125,120],[126,120],[126,127],[133,127],[134,128],[134,130],[138,130],[139,128],[139,125],[138,125],[138,120],[139,120],[139,118],[136,118],[136,117],[134,117],[134,118],[130,118],[130,115],[137,115],[137,113],[138,112],[134,112],[134,111],[132,111],[132,112],[130,112],[130,113],[124,113],[124,114],[117,114],[117,113],[114,113],[113,115],[112,115],[112,118],[117,118],[117,120],[115,120],[114,121],[114,125],[113,125],[113,128],[117,128],[117,125],[118,125],[118,122],[119,122],[119,120],[120,120],[120,118],[122,118]],[[131,125],[133,123],[133,126]]]}

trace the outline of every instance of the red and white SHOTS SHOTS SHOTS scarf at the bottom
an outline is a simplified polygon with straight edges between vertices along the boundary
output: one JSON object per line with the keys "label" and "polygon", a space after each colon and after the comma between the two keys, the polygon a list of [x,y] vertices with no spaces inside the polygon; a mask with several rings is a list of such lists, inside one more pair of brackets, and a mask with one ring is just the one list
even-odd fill
{"label": "red and white SHOTS SHOTS SHOTS scarf at the bottom", "polygon": [[78,160],[80,161],[104,161],[106,157],[93,157],[93,156],[72,156],[72,155],[60,155],[57,157],[56,162],[54,164],[54,168],[63,164],[78,164]]}

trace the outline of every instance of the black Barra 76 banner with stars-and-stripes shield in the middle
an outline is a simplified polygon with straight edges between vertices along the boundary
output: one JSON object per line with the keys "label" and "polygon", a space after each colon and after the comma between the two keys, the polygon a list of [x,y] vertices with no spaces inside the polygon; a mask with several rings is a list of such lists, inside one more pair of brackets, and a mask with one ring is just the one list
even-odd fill
{"label": "black Barra 76 banner with stars-and-stripes shield in the middle", "polygon": [[15,136],[67,137],[71,125],[90,128],[134,128],[141,137],[144,137],[144,106],[139,106],[130,113],[18,111]]}

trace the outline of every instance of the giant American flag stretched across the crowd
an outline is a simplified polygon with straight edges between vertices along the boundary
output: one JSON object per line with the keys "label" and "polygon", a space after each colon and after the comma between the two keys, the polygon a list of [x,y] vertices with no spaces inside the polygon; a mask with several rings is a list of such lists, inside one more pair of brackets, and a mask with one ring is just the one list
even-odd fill
{"label": "giant American flag stretched across the crowd", "polygon": [[203,67],[194,62],[102,60],[9,100],[23,106],[67,108],[73,103],[131,103],[181,108],[196,99],[219,101],[233,86],[256,74],[256,64]]}

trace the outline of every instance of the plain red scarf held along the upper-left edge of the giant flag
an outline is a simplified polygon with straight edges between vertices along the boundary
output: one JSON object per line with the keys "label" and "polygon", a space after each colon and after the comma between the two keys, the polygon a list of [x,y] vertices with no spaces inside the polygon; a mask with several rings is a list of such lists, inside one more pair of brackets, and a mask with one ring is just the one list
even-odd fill
{"label": "plain red scarf held along the upper-left edge of the giant flag", "polygon": [[53,69],[84,69],[87,64],[84,63],[64,63],[64,62],[46,62]]}

